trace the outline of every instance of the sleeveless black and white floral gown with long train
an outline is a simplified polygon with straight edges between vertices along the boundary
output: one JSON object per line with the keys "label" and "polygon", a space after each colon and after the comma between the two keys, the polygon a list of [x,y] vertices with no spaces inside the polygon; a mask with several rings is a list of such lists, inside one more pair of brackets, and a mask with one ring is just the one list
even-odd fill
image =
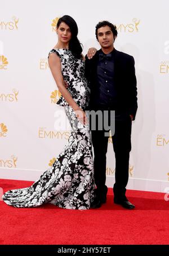
{"label": "sleeveless black and white floral gown with long train", "polygon": [[[68,49],[52,49],[61,60],[68,90],[83,110],[90,91],[84,77],[84,61],[76,59]],[[36,207],[47,202],[66,209],[85,210],[94,200],[94,163],[88,125],[77,120],[72,107],[61,96],[57,104],[64,107],[72,131],[63,151],[54,164],[28,188],[13,189],[3,195],[6,204],[16,208]]]}

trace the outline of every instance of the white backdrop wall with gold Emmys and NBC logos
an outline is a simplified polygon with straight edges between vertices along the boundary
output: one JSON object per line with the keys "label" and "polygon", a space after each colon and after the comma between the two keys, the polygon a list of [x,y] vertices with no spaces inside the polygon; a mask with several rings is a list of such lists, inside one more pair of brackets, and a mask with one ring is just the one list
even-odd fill
{"label": "white backdrop wall with gold Emmys and NBC logos", "polygon": [[[117,25],[115,48],[134,56],[138,88],[128,188],[164,191],[169,186],[169,2],[1,0],[0,7],[0,178],[37,179],[68,142],[70,127],[58,129],[60,94],[47,62],[57,42],[57,20],[66,14],[77,21],[84,55],[89,47],[99,49],[99,21]],[[114,168],[109,138],[109,187]]]}

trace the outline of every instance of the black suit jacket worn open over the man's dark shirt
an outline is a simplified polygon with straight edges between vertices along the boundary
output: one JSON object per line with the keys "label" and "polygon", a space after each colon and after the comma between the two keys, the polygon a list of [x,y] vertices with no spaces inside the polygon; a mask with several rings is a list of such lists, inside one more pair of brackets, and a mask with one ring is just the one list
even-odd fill
{"label": "black suit jacket worn open over the man's dark shirt", "polygon": [[[99,61],[99,53],[97,51],[92,59],[86,56],[85,75],[90,82],[91,97],[90,109],[95,108],[94,98],[97,91],[97,63]],[[135,76],[134,58],[124,52],[113,50],[114,56],[114,85],[117,91],[117,109],[134,116],[135,120],[137,111],[137,86]],[[115,110],[117,110],[115,109]]]}

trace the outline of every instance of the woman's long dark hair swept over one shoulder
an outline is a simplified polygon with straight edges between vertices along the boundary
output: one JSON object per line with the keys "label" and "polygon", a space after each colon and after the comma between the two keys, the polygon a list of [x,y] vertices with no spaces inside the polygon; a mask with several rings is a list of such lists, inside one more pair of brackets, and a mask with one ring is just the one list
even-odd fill
{"label": "woman's long dark hair swept over one shoulder", "polygon": [[69,50],[72,51],[72,54],[75,56],[75,58],[81,59],[83,49],[82,49],[81,43],[77,38],[77,34],[78,34],[77,23],[69,15],[64,15],[63,17],[60,17],[60,19],[57,21],[57,28],[59,28],[59,25],[62,22],[66,23],[66,25],[69,26],[70,31],[72,33],[72,38],[69,41]]}

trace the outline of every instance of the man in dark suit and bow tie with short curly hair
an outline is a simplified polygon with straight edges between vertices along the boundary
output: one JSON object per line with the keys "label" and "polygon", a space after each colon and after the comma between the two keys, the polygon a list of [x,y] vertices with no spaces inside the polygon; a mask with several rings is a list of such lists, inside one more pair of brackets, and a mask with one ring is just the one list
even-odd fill
{"label": "man in dark suit and bow tie with short curly hair", "polygon": [[[114,48],[117,37],[116,27],[109,21],[101,21],[96,25],[96,38],[101,49],[92,59],[86,56],[85,73],[91,86],[90,111],[115,111],[115,133],[112,131],[115,153],[115,184],[113,187],[114,203],[127,209],[135,206],[125,195],[128,183],[128,165],[131,151],[131,122],[135,120],[137,111],[137,87],[135,61],[128,54]],[[110,121],[112,122],[112,121]],[[99,208],[106,202],[108,188],[106,180],[106,152],[108,136],[105,129],[91,129],[94,147],[94,171],[96,197],[92,208]]]}

